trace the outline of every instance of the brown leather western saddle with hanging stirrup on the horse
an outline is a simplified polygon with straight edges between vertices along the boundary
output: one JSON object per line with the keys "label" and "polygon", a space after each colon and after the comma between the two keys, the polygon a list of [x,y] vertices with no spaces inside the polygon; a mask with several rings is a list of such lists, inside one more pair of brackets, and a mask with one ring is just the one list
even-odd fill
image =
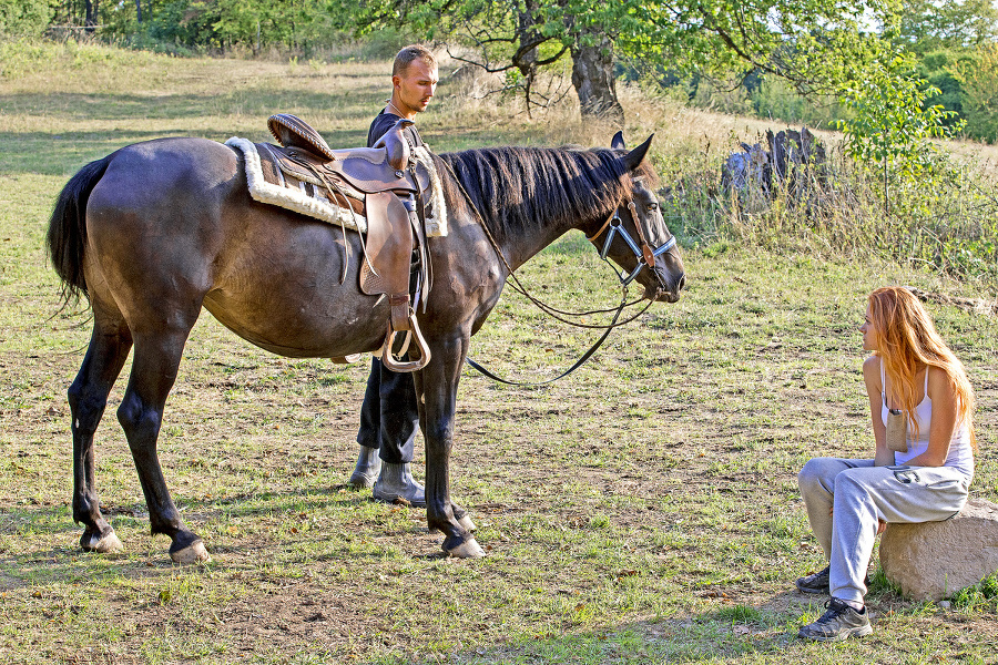
{"label": "brown leather western saddle with hanging stirrup on the horse", "polygon": [[[425,303],[431,283],[422,224],[431,178],[411,160],[411,147],[403,134],[410,124],[413,121],[400,120],[374,147],[332,150],[305,121],[278,113],[267,120],[267,126],[281,146],[256,144],[264,180],[309,195],[320,192],[333,205],[367,218],[366,239],[361,235],[360,290],[388,297],[390,316],[381,362],[391,371],[416,371],[430,360],[415,310],[420,300]],[[414,256],[419,270],[415,296],[410,296]],[[406,337],[395,350],[399,332]],[[409,350],[414,340],[416,348]],[[407,351],[414,360],[396,357]]]}

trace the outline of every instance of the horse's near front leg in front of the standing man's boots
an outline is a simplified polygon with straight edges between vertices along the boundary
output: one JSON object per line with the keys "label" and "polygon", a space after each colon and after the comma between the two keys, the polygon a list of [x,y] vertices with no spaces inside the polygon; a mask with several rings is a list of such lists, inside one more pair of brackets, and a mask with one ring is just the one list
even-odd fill
{"label": "horse's near front leg in front of the standing man's boots", "polygon": [[450,449],[461,366],[468,352],[467,334],[430,342],[432,360],[416,376],[419,426],[426,440],[426,519],[444,533],[444,551],[451,556],[485,556],[471,535],[470,518],[450,500]]}

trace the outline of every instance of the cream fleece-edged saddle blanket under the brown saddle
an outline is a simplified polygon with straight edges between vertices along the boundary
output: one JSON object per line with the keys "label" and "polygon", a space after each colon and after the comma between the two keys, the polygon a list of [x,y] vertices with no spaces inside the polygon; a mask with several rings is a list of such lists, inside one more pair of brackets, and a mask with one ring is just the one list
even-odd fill
{"label": "cream fleece-edged saddle blanket under the brown saddle", "polygon": [[[246,184],[249,188],[249,196],[254,201],[276,205],[336,226],[343,225],[359,233],[367,233],[367,218],[350,208],[332,203],[326,196],[324,187],[309,187],[313,191],[309,196],[303,182],[298,182],[299,188],[282,187],[266,182],[259,162],[259,153],[252,141],[233,136],[225,142],[225,145],[243,153],[246,164]],[[420,145],[413,151],[413,158],[430,174],[431,205],[427,207],[432,212],[426,218],[426,235],[444,237],[447,235],[447,203],[444,200],[444,188],[437,174],[434,156],[426,146]]]}

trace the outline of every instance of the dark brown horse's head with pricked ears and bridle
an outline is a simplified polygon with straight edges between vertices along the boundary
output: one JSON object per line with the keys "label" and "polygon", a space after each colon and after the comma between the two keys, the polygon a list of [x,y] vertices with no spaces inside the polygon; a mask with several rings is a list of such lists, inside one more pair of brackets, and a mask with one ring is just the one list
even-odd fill
{"label": "dark brown horse's head with pricked ears and bridle", "polygon": [[632,151],[627,151],[623,135],[613,136],[611,147],[620,153],[624,166],[624,194],[613,215],[589,237],[600,256],[611,258],[627,270],[621,282],[637,280],[650,300],[675,303],[686,284],[683,259],[675,236],[665,226],[661,206],[648,184],[654,171],[644,156],[652,136]]}

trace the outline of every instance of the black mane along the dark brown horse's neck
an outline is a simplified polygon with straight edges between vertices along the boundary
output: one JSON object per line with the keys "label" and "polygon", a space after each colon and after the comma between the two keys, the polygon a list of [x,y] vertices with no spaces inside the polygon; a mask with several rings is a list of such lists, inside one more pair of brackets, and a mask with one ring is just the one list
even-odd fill
{"label": "black mane along the dark brown horse's neck", "polygon": [[[591,218],[630,194],[632,178],[609,149],[487,147],[440,155],[492,232]],[[648,163],[635,177],[658,178]],[[447,178],[445,178],[447,180]],[[457,198],[460,192],[454,193]]]}

